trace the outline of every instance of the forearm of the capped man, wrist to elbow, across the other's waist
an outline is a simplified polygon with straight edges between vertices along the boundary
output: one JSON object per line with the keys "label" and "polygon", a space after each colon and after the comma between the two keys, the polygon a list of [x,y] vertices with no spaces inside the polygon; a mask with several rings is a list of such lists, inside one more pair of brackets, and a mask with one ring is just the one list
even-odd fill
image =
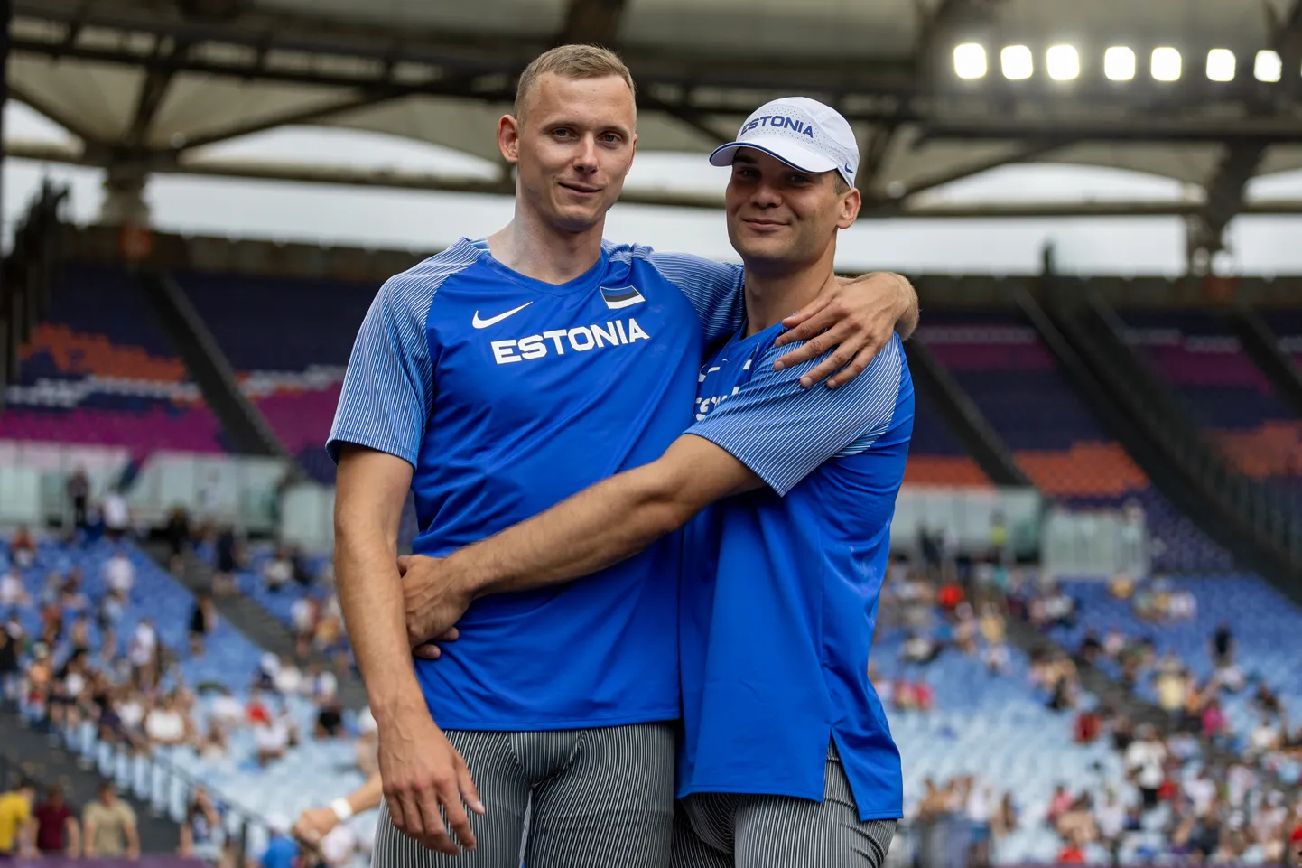
{"label": "forearm of the capped man, wrist to elbow, across the other's waist", "polygon": [[624,560],[693,512],[665,494],[648,464],[448,555],[447,566],[475,596],[559,584]]}

